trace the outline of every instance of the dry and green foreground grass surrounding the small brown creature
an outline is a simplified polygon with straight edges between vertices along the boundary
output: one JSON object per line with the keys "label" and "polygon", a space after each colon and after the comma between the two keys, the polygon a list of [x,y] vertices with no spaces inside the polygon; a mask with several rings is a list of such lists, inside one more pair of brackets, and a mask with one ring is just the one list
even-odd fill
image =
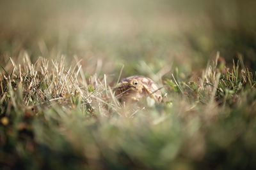
{"label": "dry and green foreground grass surrounding the small brown creature", "polygon": [[86,76],[64,58],[22,58],[1,71],[5,169],[256,166],[256,78],[239,60],[229,68],[217,55],[194,80],[176,68],[158,78],[163,103],[122,106],[113,95],[118,77]]}

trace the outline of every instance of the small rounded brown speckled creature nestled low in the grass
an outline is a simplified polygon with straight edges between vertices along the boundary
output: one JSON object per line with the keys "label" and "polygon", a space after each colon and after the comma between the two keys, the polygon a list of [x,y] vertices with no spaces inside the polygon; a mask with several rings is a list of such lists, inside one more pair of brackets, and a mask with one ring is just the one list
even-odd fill
{"label": "small rounded brown speckled creature nestled low in the grass", "polygon": [[124,101],[139,101],[145,96],[150,96],[156,102],[162,101],[162,95],[157,84],[150,78],[138,75],[121,80],[115,95]]}

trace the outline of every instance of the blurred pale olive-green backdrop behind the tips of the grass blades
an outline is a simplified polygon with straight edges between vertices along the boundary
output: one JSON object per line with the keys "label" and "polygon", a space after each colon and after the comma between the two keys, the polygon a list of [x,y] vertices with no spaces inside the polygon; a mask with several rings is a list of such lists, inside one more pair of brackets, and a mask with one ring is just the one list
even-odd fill
{"label": "blurred pale olive-green backdrop behind the tips of the grass blades", "polygon": [[189,73],[220,51],[255,71],[255,7],[250,0],[1,1],[0,62],[26,51],[33,61],[76,55],[92,73],[123,64],[124,74],[173,64]]}

